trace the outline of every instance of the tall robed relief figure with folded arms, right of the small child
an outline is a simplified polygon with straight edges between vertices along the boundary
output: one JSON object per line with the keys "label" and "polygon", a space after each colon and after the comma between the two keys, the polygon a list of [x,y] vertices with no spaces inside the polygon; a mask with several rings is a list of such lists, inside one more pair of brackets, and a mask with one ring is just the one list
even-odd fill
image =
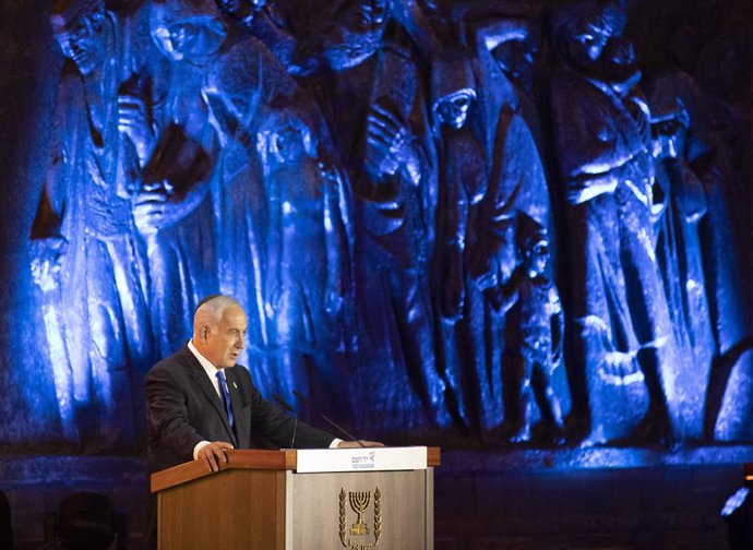
{"label": "tall robed relief figure with folded arms, right of the small child", "polygon": [[[671,437],[671,328],[652,231],[649,113],[623,26],[617,8],[589,1],[554,17],[561,67],[551,101],[571,244],[571,335],[574,364],[584,367],[574,406],[590,419],[589,442]],[[641,391],[630,391],[644,380],[649,403],[640,423],[615,399],[645,407]]]}

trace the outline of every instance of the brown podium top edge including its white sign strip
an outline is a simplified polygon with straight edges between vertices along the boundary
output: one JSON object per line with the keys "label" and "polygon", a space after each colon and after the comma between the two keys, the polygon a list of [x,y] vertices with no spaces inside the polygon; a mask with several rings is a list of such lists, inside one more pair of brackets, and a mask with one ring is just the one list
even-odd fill
{"label": "brown podium top edge including its white sign strip", "polygon": [[[421,458],[426,457],[425,462]],[[232,450],[219,471],[207,471],[201,461],[191,461],[152,475],[152,492],[156,493],[194,479],[229,469],[323,471],[383,471],[422,469],[440,465],[439,447],[367,447],[322,450]],[[420,464],[419,464],[420,463]]]}

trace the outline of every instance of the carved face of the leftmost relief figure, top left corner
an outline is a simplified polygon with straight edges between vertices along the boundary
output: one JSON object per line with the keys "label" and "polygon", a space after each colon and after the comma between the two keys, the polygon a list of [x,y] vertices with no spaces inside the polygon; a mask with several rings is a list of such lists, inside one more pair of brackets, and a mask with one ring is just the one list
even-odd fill
{"label": "carved face of the leftmost relief figure, top left corner", "polygon": [[83,8],[62,27],[55,26],[55,38],[67,58],[82,74],[91,74],[107,56],[104,44],[106,16],[101,8]]}

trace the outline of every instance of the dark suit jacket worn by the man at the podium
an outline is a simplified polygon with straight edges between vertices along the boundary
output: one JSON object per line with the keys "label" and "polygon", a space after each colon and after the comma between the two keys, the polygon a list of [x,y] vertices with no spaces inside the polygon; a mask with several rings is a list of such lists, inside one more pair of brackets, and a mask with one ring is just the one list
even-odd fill
{"label": "dark suit jacket worn by the man at the podium", "polygon": [[[296,427],[295,419],[261,396],[246,367],[225,369],[225,376],[236,422],[236,449],[250,449],[252,437],[287,447],[294,430],[298,449],[326,449],[335,439],[300,421]],[[232,441],[223,400],[188,345],[159,361],[146,374],[144,387],[150,471],[192,461],[200,441]]]}

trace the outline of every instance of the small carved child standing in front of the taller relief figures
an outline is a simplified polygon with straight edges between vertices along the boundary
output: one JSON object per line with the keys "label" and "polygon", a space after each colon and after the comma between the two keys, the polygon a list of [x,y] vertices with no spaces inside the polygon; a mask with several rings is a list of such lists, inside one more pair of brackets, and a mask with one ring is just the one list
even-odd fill
{"label": "small carved child standing in front of the taller relief figures", "polygon": [[558,444],[564,441],[562,410],[550,379],[562,362],[564,314],[557,286],[546,274],[547,231],[521,216],[516,239],[521,263],[510,280],[488,291],[491,306],[505,314],[502,433],[511,442],[529,441],[538,406],[541,435]]}

